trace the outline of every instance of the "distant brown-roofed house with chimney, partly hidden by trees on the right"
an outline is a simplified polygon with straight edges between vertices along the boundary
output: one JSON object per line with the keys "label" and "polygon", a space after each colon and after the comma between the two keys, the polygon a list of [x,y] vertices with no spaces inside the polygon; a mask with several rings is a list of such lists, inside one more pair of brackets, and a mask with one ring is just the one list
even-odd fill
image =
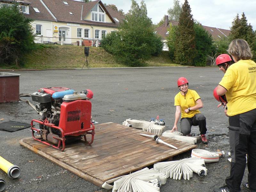
{"label": "distant brown-roofed house with chimney, partly hidden by trees on the right", "polygon": [[[159,34],[164,42],[164,51],[168,51],[168,47],[166,45],[167,42],[167,36],[169,35],[168,29],[170,26],[177,26],[179,25],[179,21],[169,21],[169,16],[165,15],[164,16],[164,24],[159,26],[158,28],[155,29],[155,33]],[[209,34],[212,35],[213,41],[218,41],[223,37],[227,37],[230,34],[230,30],[228,29],[220,29],[220,28],[215,28],[215,27],[208,27],[202,25],[202,27],[209,32]]]}

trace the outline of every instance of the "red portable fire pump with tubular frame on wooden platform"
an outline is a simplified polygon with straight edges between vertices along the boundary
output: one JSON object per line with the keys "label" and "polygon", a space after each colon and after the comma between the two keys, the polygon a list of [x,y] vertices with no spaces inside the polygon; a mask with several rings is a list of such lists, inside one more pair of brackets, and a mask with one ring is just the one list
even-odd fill
{"label": "red portable fire pump with tubular frame on wooden platform", "polygon": [[[77,93],[66,87],[41,88],[31,94],[32,100],[39,102],[36,111],[41,117],[31,121],[34,140],[64,151],[65,143],[80,140],[91,145],[94,138],[94,124],[91,122],[92,103],[86,94]],[[39,124],[39,129],[33,123]],[[35,136],[35,133],[38,136]],[[91,134],[87,141],[86,134]]]}

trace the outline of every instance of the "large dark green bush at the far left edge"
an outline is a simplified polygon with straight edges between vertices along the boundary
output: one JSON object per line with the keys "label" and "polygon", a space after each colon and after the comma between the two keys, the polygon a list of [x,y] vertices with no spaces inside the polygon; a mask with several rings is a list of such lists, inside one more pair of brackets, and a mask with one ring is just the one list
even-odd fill
{"label": "large dark green bush at the far left edge", "polygon": [[23,55],[34,45],[30,22],[17,4],[0,8],[0,63],[23,65]]}

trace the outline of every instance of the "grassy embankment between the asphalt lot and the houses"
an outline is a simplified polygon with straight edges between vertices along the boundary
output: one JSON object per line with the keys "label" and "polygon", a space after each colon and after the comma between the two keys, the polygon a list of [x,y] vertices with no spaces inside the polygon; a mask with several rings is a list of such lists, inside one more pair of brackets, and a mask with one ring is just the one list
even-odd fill
{"label": "grassy embankment between the asphalt lot and the houses", "polygon": [[[84,61],[84,47],[36,45],[36,49],[25,56],[25,65],[21,69],[82,68]],[[101,47],[90,47],[88,61],[91,68],[129,67],[116,62],[114,57]],[[146,67],[168,66],[180,65],[173,63],[167,52],[157,57],[152,56],[146,65]]]}

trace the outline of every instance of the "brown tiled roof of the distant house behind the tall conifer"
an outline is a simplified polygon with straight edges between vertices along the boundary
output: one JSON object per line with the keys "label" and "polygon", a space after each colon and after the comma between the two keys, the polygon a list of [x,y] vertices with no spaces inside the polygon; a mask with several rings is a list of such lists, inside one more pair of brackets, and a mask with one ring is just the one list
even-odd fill
{"label": "brown tiled roof of the distant house behind the tall conifer", "polygon": [[[169,23],[173,26],[179,25],[178,21],[172,21],[171,20],[171,21],[169,21]],[[156,34],[159,34],[160,36],[162,36],[163,39],[166,39],[166,37],[168,36],[168,34],[166,34],[167,29],[170,27],[170,24],[168,24],[167,27],[164,27],[164,24],[163,24],[163,25],[159,26],[158,28],[156,28],[155,29]],[[217,40],[220,39],[220,37],[228,36],[230,34],[230,30],[227,30],[227,29],[207,27],[207,26],[204,26],[204,25],[202,25],[202,27],[212,35],[213,41],[217,41]]]}

